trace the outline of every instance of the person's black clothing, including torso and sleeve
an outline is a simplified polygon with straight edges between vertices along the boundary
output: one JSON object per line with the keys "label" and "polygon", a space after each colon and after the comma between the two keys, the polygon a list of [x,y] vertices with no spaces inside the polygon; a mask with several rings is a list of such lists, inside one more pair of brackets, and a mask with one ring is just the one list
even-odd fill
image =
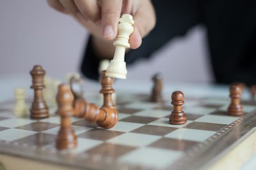
{"label": "person's black clothing, including torso and sleeve", "polygon": [[[149,58],[173,37],[202,24],[207,29],[216,83],[256,84],[255,0],[156,0],[152,3],[157,15],[156,27],[143,38],[140,48],[127,53],[127,65]],[[85,76],[97,80],[98,67],[99,59],[89,40],[81,69]]]}

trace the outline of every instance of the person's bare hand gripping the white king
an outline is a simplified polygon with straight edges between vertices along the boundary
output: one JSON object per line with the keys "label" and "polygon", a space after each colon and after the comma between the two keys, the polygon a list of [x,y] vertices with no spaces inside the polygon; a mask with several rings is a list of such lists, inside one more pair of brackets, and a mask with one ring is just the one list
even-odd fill
{"label": "person's bare hand gripping the white king", "polygon": [[134,19],[134,31],[129,43],[135,49],[141,45],[156,24],[150,0],[47,0],[49,6],[67,13],[83,24],[98,40],[113,40],[117,35],[120,16],[129,13]]}

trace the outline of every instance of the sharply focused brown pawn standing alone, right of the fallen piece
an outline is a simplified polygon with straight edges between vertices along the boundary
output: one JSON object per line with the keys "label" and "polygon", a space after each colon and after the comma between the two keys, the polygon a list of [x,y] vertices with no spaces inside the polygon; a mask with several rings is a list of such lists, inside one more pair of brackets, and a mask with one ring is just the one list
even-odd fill
{"label": "sharply focused brown pawn standing alone, right of the fallen piece", "polygon": [[172,93],[173,111],[169,117],[169,123],[173,125],[186,124],[187,117],[182,111],[182,105],[184,104],[184,94],[180,91]]}

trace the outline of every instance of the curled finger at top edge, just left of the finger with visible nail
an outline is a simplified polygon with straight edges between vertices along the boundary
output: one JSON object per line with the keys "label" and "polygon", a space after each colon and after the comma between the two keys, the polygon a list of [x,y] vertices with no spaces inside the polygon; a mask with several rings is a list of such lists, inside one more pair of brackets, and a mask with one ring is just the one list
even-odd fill
{"label": "curled finger at top edge, just left of the finger with visible nail", "polygon": [[93,22],[101,18],[100,6],[95,0],[74,0],[78,10],[88,20]]}

